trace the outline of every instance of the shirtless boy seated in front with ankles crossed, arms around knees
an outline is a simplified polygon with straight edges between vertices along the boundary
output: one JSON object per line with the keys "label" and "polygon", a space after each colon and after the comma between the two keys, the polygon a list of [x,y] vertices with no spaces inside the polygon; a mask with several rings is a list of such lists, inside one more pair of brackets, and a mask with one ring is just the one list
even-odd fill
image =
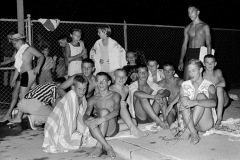
{"label": "shirtless boy seated in front with ankles crossed, arms around knees", "polygon": [[[83,122],[98,141],[90,156],[98,157],[104,149],[111,158],[115,158],[116,154],[105,137],[113,137],[119,132],[117,117],[120,112],[121,95],[109,90],[111,81],[107,73],[99,72],[96,78],[99,93],[89,99],[83,116]],[[93,109],[96,111],[95,117],[91,116]]]}

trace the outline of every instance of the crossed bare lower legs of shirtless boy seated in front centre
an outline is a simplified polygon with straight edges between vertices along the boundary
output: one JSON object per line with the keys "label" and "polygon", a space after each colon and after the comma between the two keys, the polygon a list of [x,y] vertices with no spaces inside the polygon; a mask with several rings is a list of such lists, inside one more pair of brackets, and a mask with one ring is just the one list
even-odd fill
{"label": "crossed bare lower legs of shirtless boy seated in front centre", "polygon": [[[107,115],[108,113],[109,113],[109,110],[102,109],[99,114],[100,114],[100,117],[103,117],[103,116]],[[107,143],[107,141],[105,140],[105,136],[107,134],[108,128],[109,128],[109,121],[105,121],[102,124],[100,124],[99,127],[90,129],[92,136],[95,139],[97,139],[97,141],[98,141],[93,152],[90,154],[91,157],[100,156],[103,151],[103,147],[106,149],[106,151],[110,157],[112,157],[112,158],[116,157],[112,146],[109,145]]]}

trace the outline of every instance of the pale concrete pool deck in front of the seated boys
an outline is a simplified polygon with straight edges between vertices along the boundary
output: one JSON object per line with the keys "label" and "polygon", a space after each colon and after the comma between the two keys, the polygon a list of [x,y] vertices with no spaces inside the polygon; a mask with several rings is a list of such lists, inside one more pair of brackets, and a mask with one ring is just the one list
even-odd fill
{"label": "pale concrete pool deck in front of the seated boys", "polygon": [[[240,97],[240,90],[231,90]],[[232,101],[224,112],[224,119],[240,118],[240,101]],[[0,126],[0,130],[6,126]],[[5,128],[6,129],[6,128]],[[143,138],[120,138],[109,140],[117,153],[117,160],[239,160],[240,141],[230,141],[226,135],[200,134],[198,144],[190,141],[164,141],[169,135],[168,130],[147,131],[149,135]],[[0,135],[3,132],[0,131]],[[19,133],[0,136],[1,160],[59,160],[59,159],[91,159],[88,153],[92,148],[81,148],[68,153],[49,154],[42,151],[43,131],[24,130]],[[94,159],[109,159],[101,156]]]}

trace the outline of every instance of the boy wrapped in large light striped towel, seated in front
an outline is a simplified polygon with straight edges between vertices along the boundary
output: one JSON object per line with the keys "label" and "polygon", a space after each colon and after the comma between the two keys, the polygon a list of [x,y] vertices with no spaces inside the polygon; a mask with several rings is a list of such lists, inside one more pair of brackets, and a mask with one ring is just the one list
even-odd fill
{"label": "boy wrapped in large light striped towel, seated in front", "polygon": [[78,149],[83,143],[87,131],[83,124],[87,85],[88,80],[83,75],[75,76],[72,90],[54,107],[44,127],[44,152],[67,152]]}

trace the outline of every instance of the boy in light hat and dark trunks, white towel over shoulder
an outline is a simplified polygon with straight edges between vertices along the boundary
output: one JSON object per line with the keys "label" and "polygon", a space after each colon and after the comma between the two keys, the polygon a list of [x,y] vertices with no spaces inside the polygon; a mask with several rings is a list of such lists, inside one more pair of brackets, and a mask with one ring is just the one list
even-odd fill
{"label": "boy in light hat and dark trunks, white towel over shoulder", "polygon": [[[14,67],[15,73],[11,82],[13,87],[16,81],[20,81],[19,99],[23,99],[25,94],[29,91],[30,87],[36,79],[36,75],[39,74],[40,67],[43,64],[44,56],[34,47],[29,46],[25,42],[25,36],[17,33],[12,35],[11,41],[16,48],[17,53],[15,55]],[[32,65],[33,57],[38,58],[37,66],[34,68]]]}

